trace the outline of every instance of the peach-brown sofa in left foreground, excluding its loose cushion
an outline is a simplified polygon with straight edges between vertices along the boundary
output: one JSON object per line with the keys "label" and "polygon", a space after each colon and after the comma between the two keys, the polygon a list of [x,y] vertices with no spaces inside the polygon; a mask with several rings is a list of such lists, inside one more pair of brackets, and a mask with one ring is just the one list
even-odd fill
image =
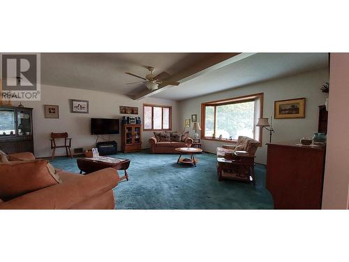
{"label": "peach-brown sofa in left foreground, excluding its loose cushion", "polygon": [[[10,154],[8,159],[18,161],[35,158],[31,153],[20,153]],[[6,163],[0,164],[0,168],[2,165]],[[114,209],[112,189],[119,183],[117,170],[105,168],[88,175],[60,169],[56,171],[62,180],[61,183],[31,191],[8,201],[0,201],[0,209]]]}

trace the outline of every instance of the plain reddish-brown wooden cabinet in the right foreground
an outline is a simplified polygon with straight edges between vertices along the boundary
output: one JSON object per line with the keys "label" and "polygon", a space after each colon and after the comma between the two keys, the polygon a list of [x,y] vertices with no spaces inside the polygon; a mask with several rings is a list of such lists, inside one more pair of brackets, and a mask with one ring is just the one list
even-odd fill
{"label": "plain reddish-brown wooden cabinet in the right foreground", "polygon": [[269,143],[267,189],[275,209],[321,209],[325,145]]}

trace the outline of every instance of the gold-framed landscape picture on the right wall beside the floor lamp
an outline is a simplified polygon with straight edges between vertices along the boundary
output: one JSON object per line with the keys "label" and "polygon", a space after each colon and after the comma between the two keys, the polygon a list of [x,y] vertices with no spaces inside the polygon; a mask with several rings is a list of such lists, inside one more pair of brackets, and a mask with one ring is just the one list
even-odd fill
{"label": "gold-framed landscape picture on the right wall beside the floor lamp", "polygon": [[288,99],[274,102],[274,118],[304,118],[305,99]]}

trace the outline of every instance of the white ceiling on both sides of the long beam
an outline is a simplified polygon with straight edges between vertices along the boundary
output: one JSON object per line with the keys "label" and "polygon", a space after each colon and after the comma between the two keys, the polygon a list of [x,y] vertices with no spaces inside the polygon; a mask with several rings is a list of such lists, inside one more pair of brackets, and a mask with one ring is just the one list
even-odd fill
{"label": "white ceiling on both sides of the long beam", "polygon": [[[166,71],[171,75],[210,57],[212,53],[42,53],[41,82],[46,85],[93,89],[133,96],[146,87],[139,78],[125,72],[145,76],[147,66],[155,74]],[[280,78],[328,66],[327,53],[258,53],[236,61],[197,78],[181,82],[178,87],[165,89],[154,97],[183,100]]]}

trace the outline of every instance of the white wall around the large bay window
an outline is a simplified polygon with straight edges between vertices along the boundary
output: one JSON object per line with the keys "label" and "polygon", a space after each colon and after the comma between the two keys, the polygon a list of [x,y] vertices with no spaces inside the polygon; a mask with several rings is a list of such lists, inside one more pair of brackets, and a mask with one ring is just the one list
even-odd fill
{"label": "white wall around the large bay window", "polygon": [[[180,101],[179,125],[184,126],[184,119],[189,119],[194,114],[198,115],[198,122],[201,122],[201,103],[203,102],[264,92],[263,117],[274,117],[274,101],[306,98],[306,117],[304,119],[273,119],[273,128],[276,132],[272,138],[274,142],[295,140],[304,136],[312,137],[313,133],[318,131],[318,105],[324,105],[327,97],[326,94],[320,92],[320,87],[328,82],[328,79],[328,69],[325,68]],[[267,145],[265,143],[268,142],[269,133],[264,130],[263,145],[256,153],[257,163],[266,163]],[[216,147],[223,144],[219,141],[202,140],[203,150],[212,153],[216,152]]]}

